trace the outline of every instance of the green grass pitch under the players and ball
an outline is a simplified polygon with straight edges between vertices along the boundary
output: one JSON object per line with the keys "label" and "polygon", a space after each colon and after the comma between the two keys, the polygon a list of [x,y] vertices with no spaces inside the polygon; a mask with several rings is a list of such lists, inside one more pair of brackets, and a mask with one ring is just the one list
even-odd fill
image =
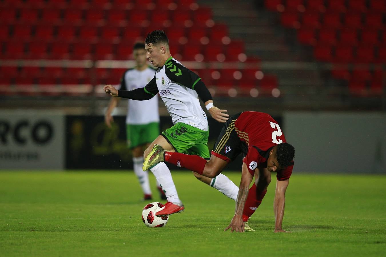
{"label": "green grass pitch under the players and ball", "polygon": [[[275,178],[250,220],[223,232],[235,203],[190,173],[172,172],[185,212],[142,223],[132,172],[1,172],[1,256],[381,256],[386,176],[294,173],[283,228],[273,233]],[[236,185],[240,173],[227,172]],[[153,193],[154,176],[149,174]],[[155,194],[155,201],[160,201]],[[150,201],[149,201],[150,202]]]}

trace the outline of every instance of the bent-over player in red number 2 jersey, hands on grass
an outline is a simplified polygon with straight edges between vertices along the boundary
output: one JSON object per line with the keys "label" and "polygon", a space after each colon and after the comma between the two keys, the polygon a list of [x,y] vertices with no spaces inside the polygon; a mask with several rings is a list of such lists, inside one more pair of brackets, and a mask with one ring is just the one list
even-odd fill
{"label": "bent-over player in red number 2 jersey, hands on grass", "polygon": [[[281,225],[295,148],[286,143],[277,121],[269,114],[245,111],[229,118],[218,136],[209,161],[197,155],[169,151],[164,151],[157,161],[167,161],[214,178],[240,153],[244,158],[236,211],[225,230],[231,228],[232,232],[245,232],[244,222],[251,217],[264,198],[271,182],[271,172],[277,172],[274,232],[286,232]],[[255,183],[249,189],[253,176]]]}

